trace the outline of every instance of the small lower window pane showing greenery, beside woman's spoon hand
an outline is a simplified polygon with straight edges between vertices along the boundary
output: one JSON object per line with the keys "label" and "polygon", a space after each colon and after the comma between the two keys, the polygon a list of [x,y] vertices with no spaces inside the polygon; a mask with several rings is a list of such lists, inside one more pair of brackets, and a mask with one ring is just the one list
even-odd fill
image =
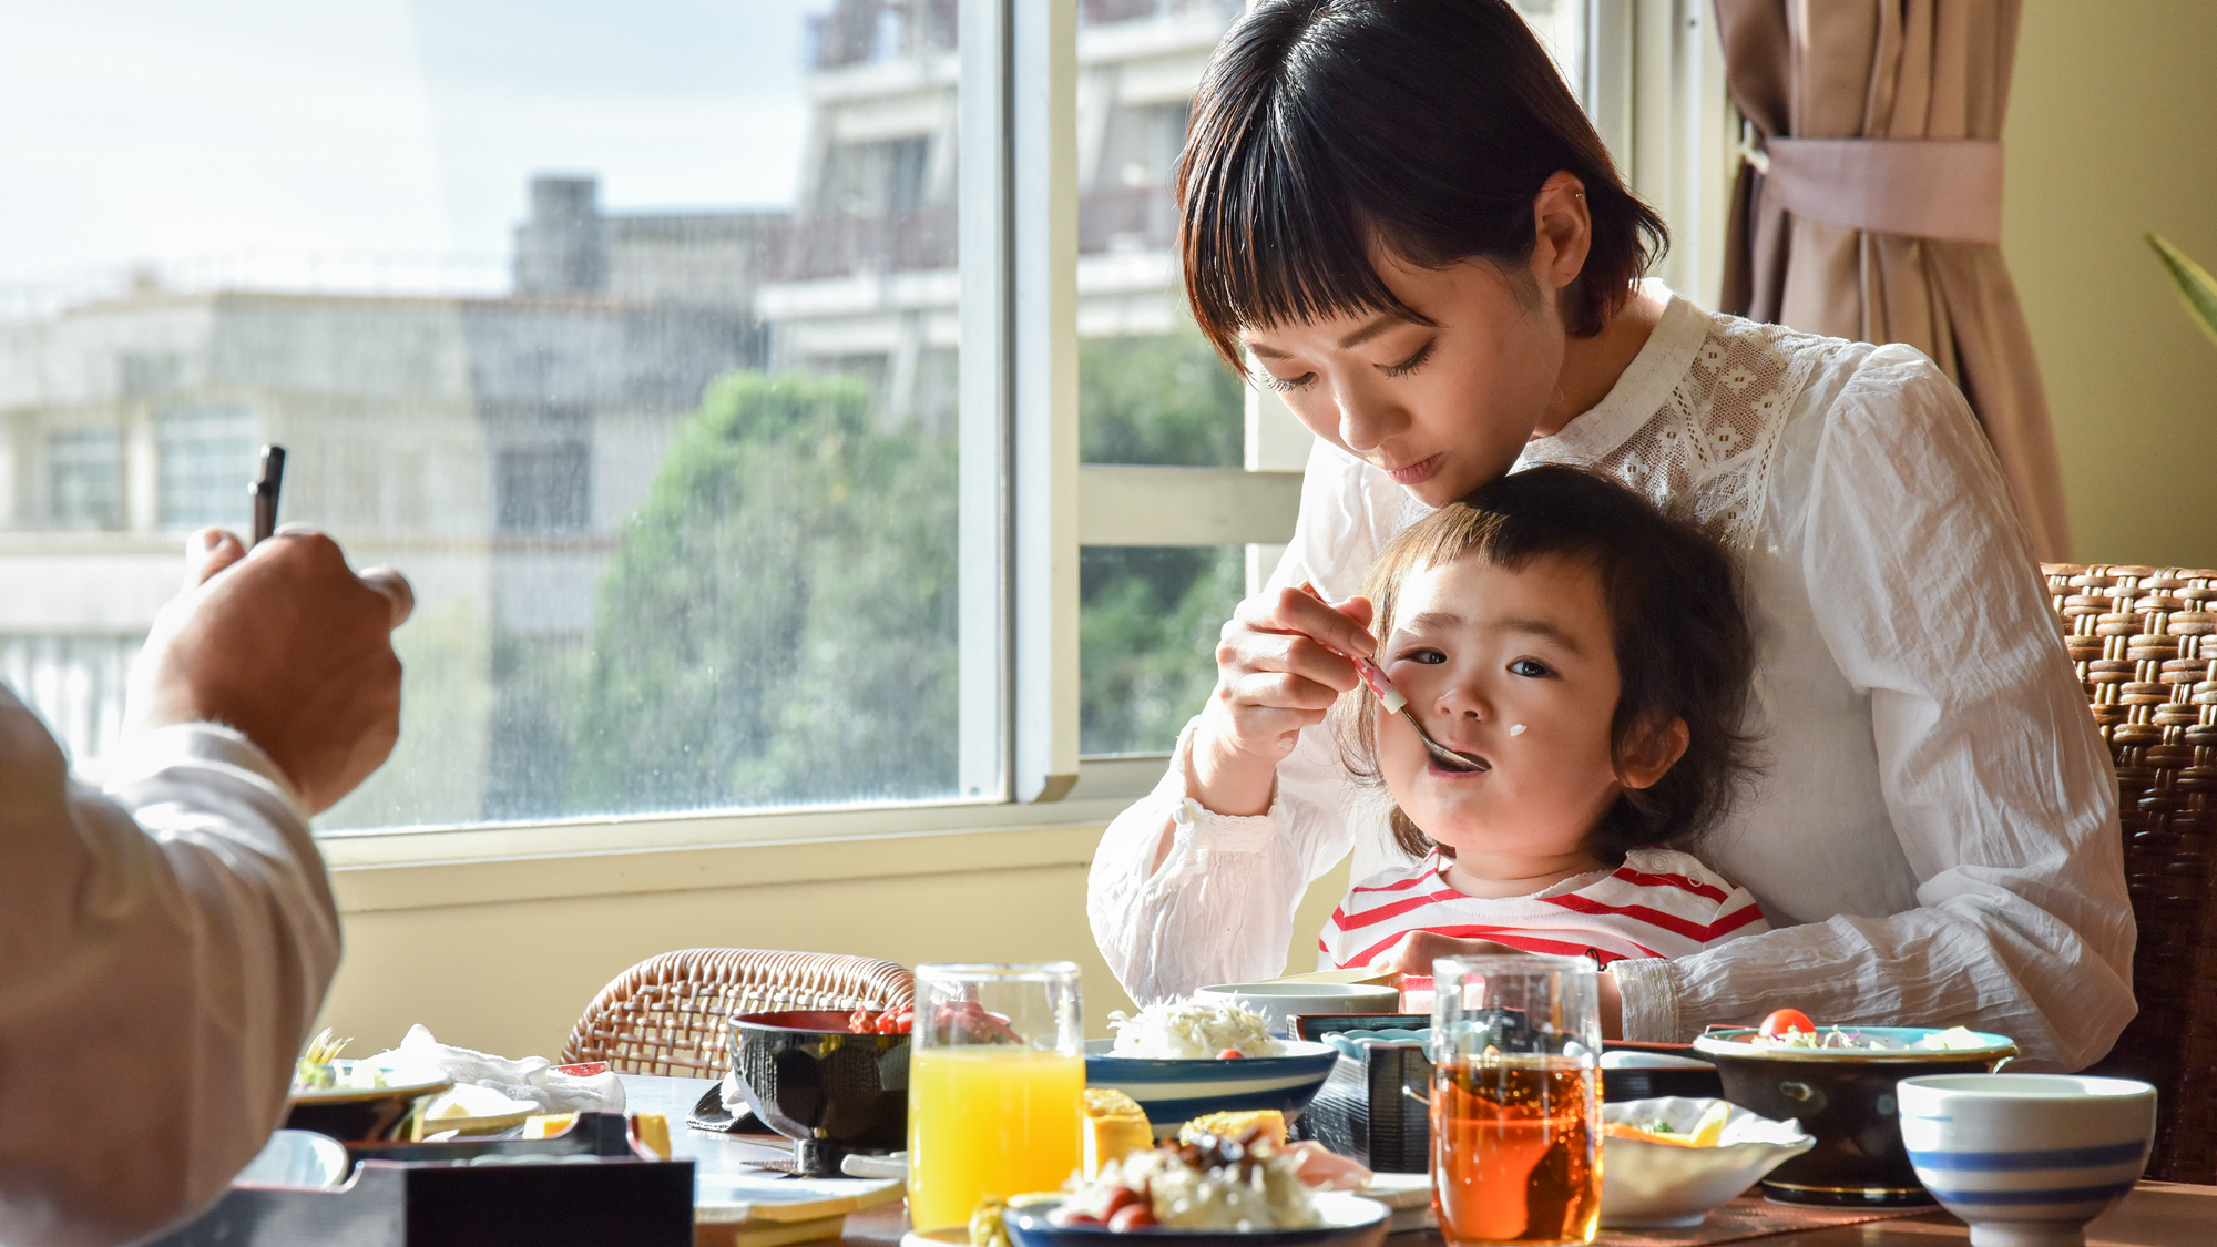
{"label": "small lower window pane showing greenery, beside woman's spoon hand", "polygon": [[1077,564],[1086,754],[1166,752],[1217,683],[1246,546],[1086,546]]}

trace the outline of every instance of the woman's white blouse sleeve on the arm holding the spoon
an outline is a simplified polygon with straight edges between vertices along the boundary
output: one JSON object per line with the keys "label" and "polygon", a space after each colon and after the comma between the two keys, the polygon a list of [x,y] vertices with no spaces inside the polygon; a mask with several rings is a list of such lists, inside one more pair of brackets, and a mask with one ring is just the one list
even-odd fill
{"label": "woman's white blouse sleeve on the arm holding the spoon", "polygon": [[[1319,442],[1270,588],[1315,579],[1332,595],[1355,592],[1377,550],[1372,504],[1355,462]],[[1277,768],[1270,810],[1246,819],[1186,794],[1191,739],[1186,723],[1168,772],[1108,823],[1086,876],[1093,941],[1142,1005],[1284,974],[1308,883],[1348,854],[1357,832],[1357,801],[1328,728],[1301,732]],[[1157,868],[1164,834],[1171,843]]]}

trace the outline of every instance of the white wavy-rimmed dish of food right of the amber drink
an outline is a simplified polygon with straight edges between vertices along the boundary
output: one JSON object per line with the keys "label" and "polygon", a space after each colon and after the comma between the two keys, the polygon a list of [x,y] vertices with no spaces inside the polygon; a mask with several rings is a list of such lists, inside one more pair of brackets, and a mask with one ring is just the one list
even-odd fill
{"label": "white wavy-rimmed dish of food right of the amber drink", "polygon": [[[1601,1121],[1665,1121],[1689,1134],[1714,1098],[1663,1096],[1601,1105]],[[1778,1165],[1816,1147],[1800,1123],[1771,1121],[1729,1105],[1725,1134],[1714,1147],[1649,1143],[1605,1136],[1601,1140],[1601,1225],[1610,1229],[1692,1227],[1738,1196]]]}

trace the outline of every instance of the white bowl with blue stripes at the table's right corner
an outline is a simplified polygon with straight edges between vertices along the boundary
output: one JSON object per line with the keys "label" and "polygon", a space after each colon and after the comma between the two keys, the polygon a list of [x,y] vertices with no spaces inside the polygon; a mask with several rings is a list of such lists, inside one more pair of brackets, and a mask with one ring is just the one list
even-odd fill
{"label": "white bowl with blue stripes at the table's right corner", "polygon": [[2148,1165],[2155,1087],[2064,1074],[1902,1078],[1902,1143],[1975,1247],[2084,1243]]}

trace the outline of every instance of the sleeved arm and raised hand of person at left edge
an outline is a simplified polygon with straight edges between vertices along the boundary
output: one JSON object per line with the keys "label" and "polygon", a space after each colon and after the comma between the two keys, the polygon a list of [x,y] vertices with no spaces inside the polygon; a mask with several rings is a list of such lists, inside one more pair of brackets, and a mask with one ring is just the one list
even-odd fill
{"label": "sleeved arm and raised hand of person at left edge", "polygon": [[308,814],[392,748],[412,597],[302,530],[191,555],[111,794],[0,695],[0,1243],[124,1243],[217,1198],[337,965]]}

